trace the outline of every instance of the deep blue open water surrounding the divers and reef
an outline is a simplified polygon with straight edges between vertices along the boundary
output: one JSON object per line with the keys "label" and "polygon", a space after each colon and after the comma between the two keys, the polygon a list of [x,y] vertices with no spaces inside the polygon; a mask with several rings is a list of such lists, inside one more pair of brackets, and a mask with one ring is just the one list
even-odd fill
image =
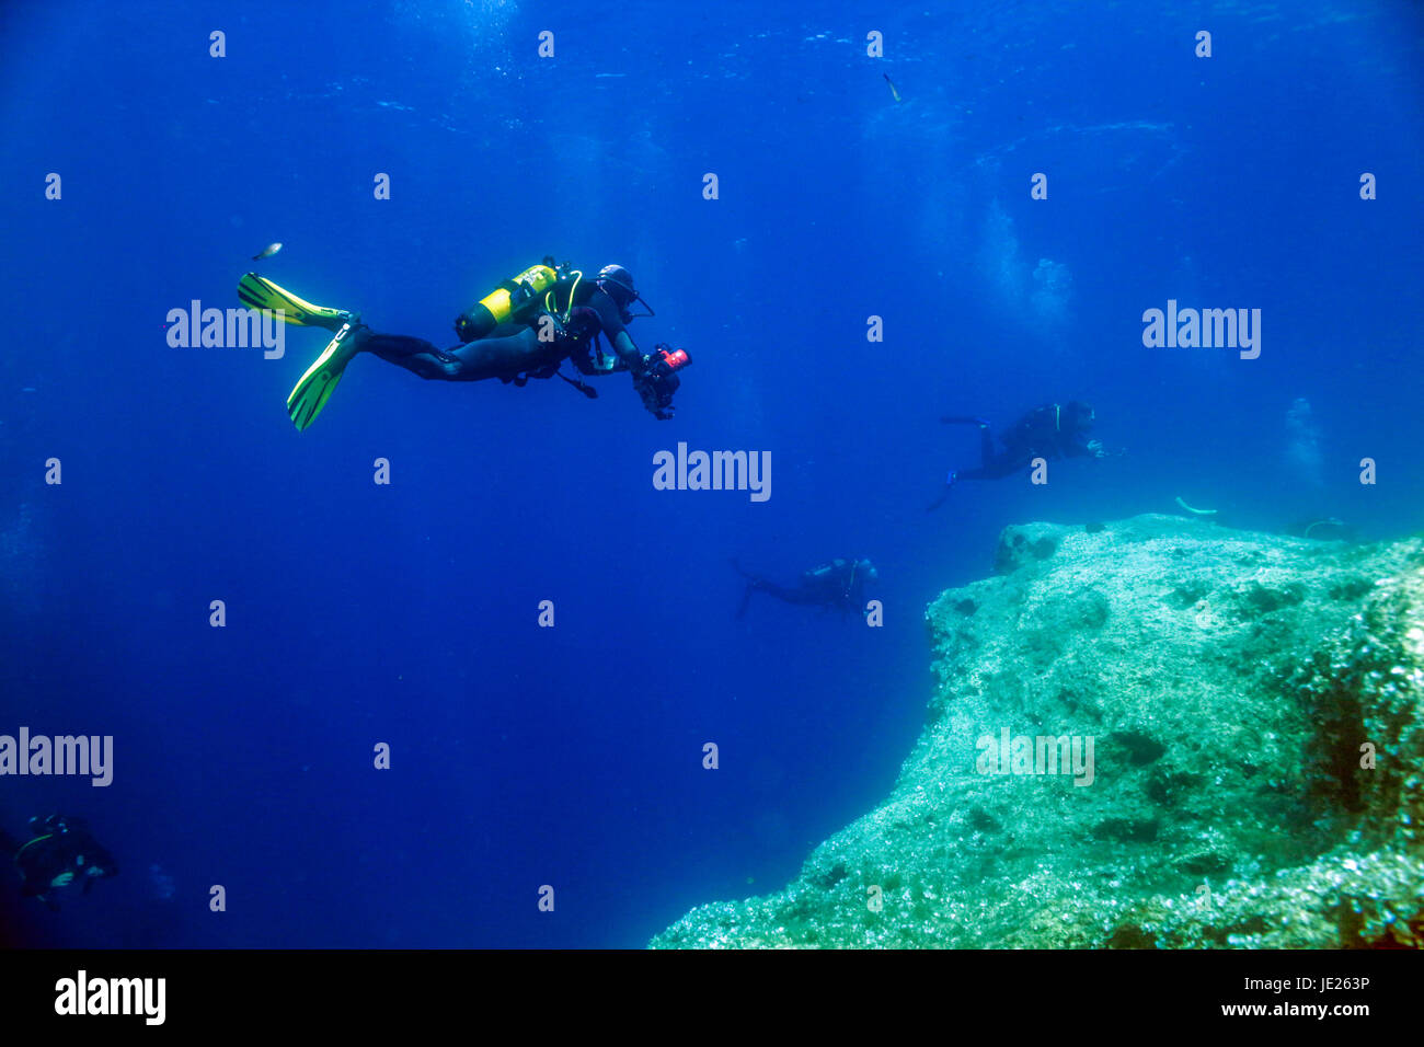
{"label": "deep blue open water surrounding the divers and reef", "polygon": [[[987,7],[6,6],[0,732],[112,735],[115,766],[3,778],[0,823],[81,813],[121,866],[60,913],[7,880],[7,933],[637,947],[883,798],[924,604],[1002,526],[1183,497],[1417,528],[1420,9]],[[167,342],[256,268],[449,346],[545,254],[637,275],[632,336],[693,359],[675,420],[625,376],[588,402],[363,356],[298,433],[322,332]],[[1143,348],[1168,299],[1262,309],[1260,358]],[[1074,397],[1112,457],[924,511],[977,456],[940,415]],[[654,490],[678,442],[770,452],[772,497]],[[883,628],[735,618],[729,558],[837,556],[879,566]]]}

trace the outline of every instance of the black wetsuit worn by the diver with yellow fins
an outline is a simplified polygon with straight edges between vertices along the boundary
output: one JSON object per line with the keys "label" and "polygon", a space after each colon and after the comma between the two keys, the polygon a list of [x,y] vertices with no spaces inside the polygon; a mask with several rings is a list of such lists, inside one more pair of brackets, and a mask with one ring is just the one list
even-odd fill
{"label": "black wetsuit worn by the diver with yellow fins", "polygon": [[[554,288],[560,311],[568,306],[571,286],[574,282],[564,279]],[[488,336],[453,349],[439,349],[423,338],[379,335],[369,329],[357,335],[357,345],[420,377],[447,382],[497,377],[524,385],[530,377],[553,377],[564,360],[570,360],[584,375],[641,370],[642,355],[627,330],[627,322],[632,318],[594,281],[578,281],[568,323],[550,342],[538,339],[540,318],[544,315],[547,313],[534,313],[524,323],[503,323]],[[611,352],[602,348],[600,336],[608,339]]]}

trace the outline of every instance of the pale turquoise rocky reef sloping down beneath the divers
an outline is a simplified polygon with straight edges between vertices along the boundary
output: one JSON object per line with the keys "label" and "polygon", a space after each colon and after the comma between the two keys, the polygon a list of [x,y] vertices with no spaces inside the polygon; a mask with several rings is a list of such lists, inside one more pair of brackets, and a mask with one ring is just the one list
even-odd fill
{"label": "pale turquoise rocky reef sloping down beneath the divers", "polygon": [[894,792],[654,947],[1418,947],[1424,540],[1028,524]]}

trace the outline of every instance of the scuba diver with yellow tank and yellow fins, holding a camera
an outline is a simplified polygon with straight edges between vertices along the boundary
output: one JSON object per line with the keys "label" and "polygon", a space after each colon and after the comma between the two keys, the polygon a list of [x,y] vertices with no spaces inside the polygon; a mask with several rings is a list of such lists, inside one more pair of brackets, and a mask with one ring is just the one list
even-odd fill
{"label": "scuba diver with yellow tank and yellow fins, holding a camera", "polygon": [[[422,338],[376,333],[359,313],[312,305],[255,272],[239,281],[238,298],[252,309],[282,309],[288,323],[335,333],[286,397],[288,415],[299,430],[312,424],[346,365],[362,352],[446,382],[497,377],[524,386],[531,377],[561,377],[590,399],[597,399],[598,390],[564,375],[564,360],[587,376],[627,370],[644,406],[659,420],[672,417],[672,395],[682,382],[676,372],[691,363],[685,349],[658,343],[644,355],[628,336],[634,302],[646,309],[637,316],[654,312],[621,265],[605,265],[585,279],[568,262],[545,256],[460,313],[454,323],[460,345],[453,349]],[[608,340],[611,352],[600,338]]]}

